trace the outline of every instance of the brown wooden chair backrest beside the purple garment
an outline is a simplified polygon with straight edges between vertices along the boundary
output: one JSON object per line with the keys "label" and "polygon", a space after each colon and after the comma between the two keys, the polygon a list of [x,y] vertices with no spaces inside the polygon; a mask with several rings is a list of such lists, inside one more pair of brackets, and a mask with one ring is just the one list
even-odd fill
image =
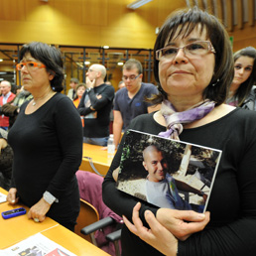
{"label": "brown wooden chair backrest beside the purple garment", "polygon": [[74,227],[74,233],[80,237],[92,242],[89,235],[81,234],[80,230],[84,226],[94,223],[99,220],[98,211],[89,202],[80,198],[80,212],[76,219],[77,225]]}

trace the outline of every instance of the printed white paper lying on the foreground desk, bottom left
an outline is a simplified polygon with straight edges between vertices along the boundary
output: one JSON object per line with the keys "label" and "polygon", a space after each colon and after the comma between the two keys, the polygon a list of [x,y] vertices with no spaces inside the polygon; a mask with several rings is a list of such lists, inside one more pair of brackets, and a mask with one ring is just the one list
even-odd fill
{"label": "printed white paper lying on the foreground desk, bottom left", "polygon": [[0,250],[0,256],[76,256],[41,233]]}

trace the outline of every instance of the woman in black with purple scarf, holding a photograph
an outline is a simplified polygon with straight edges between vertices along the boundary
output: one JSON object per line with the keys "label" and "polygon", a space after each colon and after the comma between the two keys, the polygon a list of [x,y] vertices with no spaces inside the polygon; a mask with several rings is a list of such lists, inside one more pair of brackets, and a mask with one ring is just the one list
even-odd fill
{"label": "woman in black with purple scarf, holding a photograph", "polygon": [[117,191],[112,174],[121,143],[102,194],[124,216],[123,256],[255,255],[256,113],[224,104],[234,73],[224,27],[197,8],[177,12],[163,25],[154,54],[161,94],[152,101],[162,108],[135,118],[130,128],[222,150],[222,156],[201,214],[154,207]]}

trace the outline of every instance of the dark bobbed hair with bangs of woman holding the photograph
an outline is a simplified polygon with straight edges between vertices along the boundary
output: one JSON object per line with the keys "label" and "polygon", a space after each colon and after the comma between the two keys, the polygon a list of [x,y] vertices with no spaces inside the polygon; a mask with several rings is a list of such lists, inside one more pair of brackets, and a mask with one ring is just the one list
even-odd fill
{"label": "dark bobbed hair with bangs of woman holding the photograph", "polygon": [[[216,106],[223,103],[227,97],[234,75],[234,64],[229,37],[222,24],[214,16],[193,7],[189,10],[178,11],[169,16],[162,26],[154,47],[154,75],[159,86],[160,94],[151,99],[153,103],[160,103],[167,98],[159,79],[159,61],[156,51],[174,39],[175,35],[188,37],[200,25],[200,33],[205,29],[206,37],[211,42],[215,54],[215,67],[208,86],[203,91],[203,98],[216,102]],[[214,86],[212,86],[214,84]]]}

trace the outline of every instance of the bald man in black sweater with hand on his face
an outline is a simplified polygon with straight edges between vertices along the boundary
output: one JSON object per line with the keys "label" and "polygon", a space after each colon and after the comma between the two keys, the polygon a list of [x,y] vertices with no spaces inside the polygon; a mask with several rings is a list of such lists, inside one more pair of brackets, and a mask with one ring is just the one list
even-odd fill
{"label": "bald man in black sweater with hand on his face", "polygon": [[84,143],[107,145],[115,90],[104,82],[105,76],[106,68],[102,64],[92,64],[86,72],[86,90],[78,105],[79,114],[84,118]]}

